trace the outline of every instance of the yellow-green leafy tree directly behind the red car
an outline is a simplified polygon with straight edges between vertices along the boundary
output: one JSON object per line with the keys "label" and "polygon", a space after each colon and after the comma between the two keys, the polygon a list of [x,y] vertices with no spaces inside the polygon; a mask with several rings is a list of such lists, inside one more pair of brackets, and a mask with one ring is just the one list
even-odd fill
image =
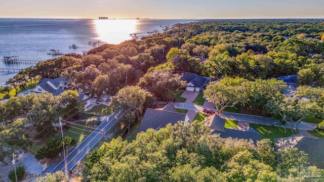
{"label": "yellow-green leafy tree directly behind the red car", "polygon": [[244,78],[224,78],[219,82],[211,82],[204,91],[204,98],[216,105],[219,116],[227,107],[235,107],[238,103],[245,103]]}

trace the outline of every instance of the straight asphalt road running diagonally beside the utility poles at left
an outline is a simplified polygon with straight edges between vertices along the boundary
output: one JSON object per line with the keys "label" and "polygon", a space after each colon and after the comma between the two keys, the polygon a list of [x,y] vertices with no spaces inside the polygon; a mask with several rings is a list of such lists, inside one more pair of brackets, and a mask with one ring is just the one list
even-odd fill
{"label": "straight asphalt road running diagonally beside the utility poles at left", "polygon": [[[98,127],[95,129],[80,145],[78,145],[72,152],[67,156],[67,170],[72,170],[75,165],[83,159],[83,157],[96,145],[97,142],[103,136],[103,129],[107,132],[121,116],[124,111],[114,112],[109,115]],[[56,167],[50,172],[63,171],[64,172],[64,160],[62,160]]]}

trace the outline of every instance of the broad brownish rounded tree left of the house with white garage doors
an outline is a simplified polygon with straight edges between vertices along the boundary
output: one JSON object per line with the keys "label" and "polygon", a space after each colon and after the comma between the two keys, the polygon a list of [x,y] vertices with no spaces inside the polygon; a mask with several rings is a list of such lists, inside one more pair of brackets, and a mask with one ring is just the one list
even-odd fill
{"label": "broad brownish rounded tree left of the house with white garage doors", "polygon": [[171,69],[165,68],[144,74],[137,85],[147,88],[156,97],[170,99],[174,98],[177,90],[184,87],[186,83],[180,81],[180,76],[173,74]]}

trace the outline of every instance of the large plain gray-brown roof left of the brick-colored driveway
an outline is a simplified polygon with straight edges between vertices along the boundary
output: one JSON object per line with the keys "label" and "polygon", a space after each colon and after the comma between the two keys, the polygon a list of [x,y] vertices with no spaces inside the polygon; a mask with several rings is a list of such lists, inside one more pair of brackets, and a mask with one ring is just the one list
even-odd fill
{"label": "large plain gray-brown roof left of the brick-colored driveway", "polygon": [[148,128],[158,130],[166,127],[169,123],[174,125],[178,121],[187,122],[188,120],[188,116],[183,113],[147,108],[138,132],[145,132]]}

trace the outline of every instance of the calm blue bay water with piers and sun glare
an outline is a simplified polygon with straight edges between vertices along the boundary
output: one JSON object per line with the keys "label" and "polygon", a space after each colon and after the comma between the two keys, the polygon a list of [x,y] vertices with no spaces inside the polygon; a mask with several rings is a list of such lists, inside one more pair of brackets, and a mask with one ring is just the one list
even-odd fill
{"label": "calm blue bay water with piers and sun glare", "polygon": [[[5,64],[4,56],[19,56],[23,60],[47,60],[56,56],[47,55],[49,50],[62,53],[78,53],[86,49],[69,49],[69,45],[90,47],[89,41],[101,40],[120,43],[138,37],[148,36],[148,31],[158,30],[176,23],[193,20],[28,20],[0,19],[0,68],[26,68],[32,64]],[[0,85],[15,74],[0,72]]]}

